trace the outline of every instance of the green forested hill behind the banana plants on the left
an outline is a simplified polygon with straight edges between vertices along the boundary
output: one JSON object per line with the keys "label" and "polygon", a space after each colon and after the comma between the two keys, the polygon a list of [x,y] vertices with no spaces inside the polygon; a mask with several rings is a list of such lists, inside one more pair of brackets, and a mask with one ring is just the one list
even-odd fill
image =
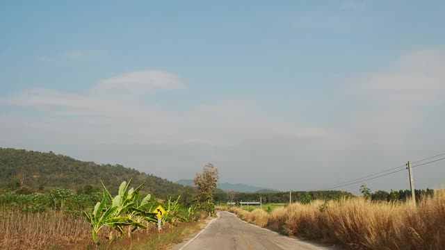
{"label": "green forested hill behind the banana plants on the left", "polygon": [[0,148],[0,189],[46,192],[53,187],[71,188],[77,192],[101,189],[100,181],[111,188],[133,178],[144,192],[156,197],[179,194],[183,185],[145,174],[122,165],[98,165],[60,154]]}

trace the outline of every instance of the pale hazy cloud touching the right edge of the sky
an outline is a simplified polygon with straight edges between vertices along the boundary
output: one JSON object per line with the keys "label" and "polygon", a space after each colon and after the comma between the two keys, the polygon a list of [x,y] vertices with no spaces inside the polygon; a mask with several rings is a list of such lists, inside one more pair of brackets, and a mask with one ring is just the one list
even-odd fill
{"label": "pale hazy cloud touching the right edge of the sky", "polygon": [[385,106],[428,106],[443,101],[444,80],[444,51],[415,51],[391,69],[364,77],[355,93]]}

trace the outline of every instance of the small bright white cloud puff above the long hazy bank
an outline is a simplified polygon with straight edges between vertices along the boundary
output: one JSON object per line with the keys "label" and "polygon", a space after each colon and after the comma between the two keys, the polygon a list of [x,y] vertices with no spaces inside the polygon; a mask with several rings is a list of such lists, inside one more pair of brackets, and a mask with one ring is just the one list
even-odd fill
{"label": "small bright white cloud puff above the long hazy bank", "polygon": [[130,72],[101,81],[96,90],[146,94],[156,90],[177,90],[185,88],[177,76],[159,70]]}

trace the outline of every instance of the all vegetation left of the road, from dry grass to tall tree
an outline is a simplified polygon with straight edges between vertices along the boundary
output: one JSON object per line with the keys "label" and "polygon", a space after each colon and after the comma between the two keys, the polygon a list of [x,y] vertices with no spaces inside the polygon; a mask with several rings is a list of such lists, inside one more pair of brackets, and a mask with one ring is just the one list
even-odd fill
{"label": "all vegetation left of the road, from dry grass to tall tree", "polygon": [[[167,249],[199,231],[214,215],[218,169],[197,174],[186,202],[181,194],[156,199],[145,183],[123,181],[102,193],[51,188],[45,194],[0,194],[0,249]],[[113,190],[116,190],[113,192]],[[190,190],[189,190],[190,191]],[[162,230],[154,208],[163,206]]]}

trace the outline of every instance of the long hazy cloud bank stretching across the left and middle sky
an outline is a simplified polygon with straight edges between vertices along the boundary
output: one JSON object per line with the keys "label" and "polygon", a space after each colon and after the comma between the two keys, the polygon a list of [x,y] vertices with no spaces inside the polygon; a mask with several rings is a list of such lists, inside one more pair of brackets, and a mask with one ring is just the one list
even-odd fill
{"label": "long hazy cloud bank stretching across the left and middle sky", "polygon": [[[95,138],[103,135],[99,141],[122,144],[234,147],[259,138],[296,140],[329,135],[322,128],[304,128],[270,120],[259,112],[255,103],[245,99],[203,103],[178,112],[149,105],[140,97],[140,94],[155,90],[177,88],[184,88],[177,76],[146,70],[100,81],[84,94],[29,89],[0,101],[44,112],[53,119],[51,127],[71,128],[71,124],[81,122],[81,126],[75,125],[72,130],[81,129],[83,135]],[[97,127],[101,128],[99,132]],[[121,136],[122,131],[125,136]],[[86,140],[88,136],[77,135],[70,140]]]}

